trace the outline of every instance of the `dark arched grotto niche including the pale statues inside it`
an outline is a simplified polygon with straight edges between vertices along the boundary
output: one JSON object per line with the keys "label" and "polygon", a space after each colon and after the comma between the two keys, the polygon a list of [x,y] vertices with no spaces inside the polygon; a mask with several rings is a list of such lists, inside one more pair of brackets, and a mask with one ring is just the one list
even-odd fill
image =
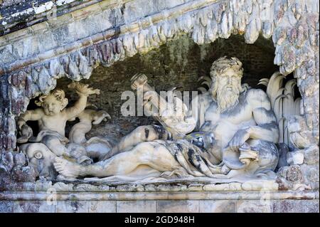
{"label": "dark arched grotto niche including the pale statues inside it", "polygon": [[[264,38],[248,45],[231,36],[199,46],[181,36],[144,55],[96,68],[87,85],[58,80],[53,92],[33,100],[38,108],[28,107],[18,118],[19,150],[38,177],[55,181],[274,181],[274,171],[287,166],[294,149],[288,122],[300,115],[301,98],[295,99],[297,83],[277,72],[273,58],[272,43]],[[137,116],[135,96],[129,107],[134,111],[124,115],[124,98],[130,95],[123,94],[139,85],[144,115]],[[74,91],[70,100],[64,90]],[[194,96],[168,100],[157,94],[161,90],[184,92],[183,99],[186,92]],[[188,109],[191,100],[198,104]],[[157,115],[148,117],[157,102],[165,110],[156,107]],[[239,120],[233,122],[234,117]],[[38,132],[28,126],[32,121],[38,122]]]}

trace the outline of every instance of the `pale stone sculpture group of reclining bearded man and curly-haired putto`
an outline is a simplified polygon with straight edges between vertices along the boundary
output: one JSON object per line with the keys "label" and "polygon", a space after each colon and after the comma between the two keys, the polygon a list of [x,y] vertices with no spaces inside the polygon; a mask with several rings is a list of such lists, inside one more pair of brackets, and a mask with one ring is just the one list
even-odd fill
{"label": "pale stone sculpture group of reclining bearded man and curly-haired putto", "polygon": [[[63,90],[54,90],[39,97],[40,108],[19,117],[19,149],[40,176],[58,180],[85,176],[274,179],[274,169],[286,164],[279,162],[286,149],[279,146],[273,100],[261,89],[241,85],[242,73],[238,58],[215,60],[210,89],[192,100],[196,105],[189,109],[179,99],[166,101],[147,83],[146,75],[134,75],[132,89],[143,88],[144,108],[151,111],[159,103],[166,108],[155,116],[159,125],[137,127],[114,146],[102,137],[86,139],[92,124],[110,115],[86,108],[88,95],[98,95],[99,90],[71,83],[68,87],[79,95],[73,107],[66,107]],[[77,117],[80,122],[66,138],[66,122]],[[31,120],[38,121],[36,137],[27,125]]]}

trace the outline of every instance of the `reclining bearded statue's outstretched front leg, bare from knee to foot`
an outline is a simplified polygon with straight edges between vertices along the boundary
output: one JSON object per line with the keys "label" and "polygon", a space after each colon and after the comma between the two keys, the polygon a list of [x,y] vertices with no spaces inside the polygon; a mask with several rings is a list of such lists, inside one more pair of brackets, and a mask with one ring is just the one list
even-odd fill
{"label": "reclining bearded statue's outstretched front leg, bare from knee to foot", "polygon": [[145,164],[158,171],[174,171],[181,169],[166,147],[157,142],[143,142],[129,152],[122,152],[114,157],[82,166],[68,160],[56,158],[55,169],[66,177],[77,176],[114,176],[128,175],[139,165]]}

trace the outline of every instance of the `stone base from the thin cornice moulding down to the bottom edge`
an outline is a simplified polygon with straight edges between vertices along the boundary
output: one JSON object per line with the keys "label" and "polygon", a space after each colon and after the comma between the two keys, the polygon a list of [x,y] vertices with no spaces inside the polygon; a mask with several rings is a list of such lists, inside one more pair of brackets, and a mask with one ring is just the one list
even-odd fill
{"label": "stone base from the thin cornice moulding down to the bottom edge", "polygon": [[0,212],[319,212],[317,191],[158,191],[0,193]]}

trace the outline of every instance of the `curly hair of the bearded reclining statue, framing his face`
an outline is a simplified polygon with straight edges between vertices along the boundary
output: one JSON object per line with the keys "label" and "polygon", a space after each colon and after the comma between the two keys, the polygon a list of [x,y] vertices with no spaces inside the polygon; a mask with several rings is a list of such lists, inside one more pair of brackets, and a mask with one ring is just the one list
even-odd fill
{"label": "curly hair of the bearded reclining statue, framing his face", "polygon": [[[243,75],[243,68],[242,63],[238,58],[235,57],[228,57],[223,56],[221,58],[218,58],[212,63],[211,69],[210,69],[210,77],[212,79],[212,87],[211,92],[213,95],[213,99],[216,98],[217,90],[218,90],[218,83],[217,78],[229,68],[232,68],[235,71],[235,75],[238,75],[238,77],[241,79]],[[242,90],[241,83],[239,84],[239,90]]]}

